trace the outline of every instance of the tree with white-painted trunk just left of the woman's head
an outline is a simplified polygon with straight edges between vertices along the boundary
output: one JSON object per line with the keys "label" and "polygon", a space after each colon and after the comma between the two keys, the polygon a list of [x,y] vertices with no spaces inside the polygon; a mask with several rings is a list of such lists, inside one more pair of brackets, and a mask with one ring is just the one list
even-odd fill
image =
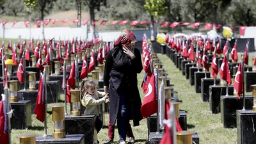
{"label": "tree with white-painted trunk just left of the woman's head", "polygon": [[106,6],[106,0],[83,0],[83,3],[89,7],[90,12],[90,31],[92,38],[95,38],[95,12],[94,10],[100,11],[100,6],[103,4]]}

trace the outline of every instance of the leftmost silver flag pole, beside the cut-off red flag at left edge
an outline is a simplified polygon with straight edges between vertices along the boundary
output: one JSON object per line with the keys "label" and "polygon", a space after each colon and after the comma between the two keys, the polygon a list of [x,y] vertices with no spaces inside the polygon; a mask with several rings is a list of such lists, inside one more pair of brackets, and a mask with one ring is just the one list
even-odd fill
{"label": "leftmost silver flag pole, beside the cut-off red flag at left edge", "polygon": [[[5,80],[3,80],[5,81]],[[8,85],[7,85],[7,81],[5,81],[5,86],[4,86],[4,95],[5,95],[5,100],[6,100],[6,116],[7,116],[7,122],[8,122],[8,128],[7,128],[7,131],[8,131],[8,142],[9,143],[12,143],[11,142],[11,132],[12,132],[12,129],[11,129],[11,116],[12,116],[12,111],[10,111],[10,90],[8,88]],[[3,99],[3,98],[2,98]],[[11,116],[10,116],[11,115]]]}

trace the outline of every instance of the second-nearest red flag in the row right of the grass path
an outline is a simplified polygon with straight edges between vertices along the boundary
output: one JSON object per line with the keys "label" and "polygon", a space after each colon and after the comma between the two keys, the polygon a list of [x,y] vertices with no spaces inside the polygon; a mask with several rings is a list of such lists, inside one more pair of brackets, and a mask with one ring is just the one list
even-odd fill
{"label": "second-nearest red flag in the row right of the grass path", "polygon": [[227,56],[225,55],[222,63],[221,63],[221,67],[220,67],[220,76],[221,79],[223,79],[224,81],[227,81],[227,83],[230,85],[232,83],[231,81],[231,76],[230,76],[230,70],[228,67],[228,60],[227,60]]}

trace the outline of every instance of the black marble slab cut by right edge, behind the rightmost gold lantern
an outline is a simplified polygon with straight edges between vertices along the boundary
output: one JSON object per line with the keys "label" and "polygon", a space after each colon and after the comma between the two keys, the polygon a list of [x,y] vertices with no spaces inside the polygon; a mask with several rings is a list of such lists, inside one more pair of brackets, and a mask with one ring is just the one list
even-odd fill
{"label": "black marble slab cut by right edge, behind the rightmost gold lantern", "polygon": [[256,72],[244,72],[244,88],[246,92],[252,92],[253,84],[256,84]]}

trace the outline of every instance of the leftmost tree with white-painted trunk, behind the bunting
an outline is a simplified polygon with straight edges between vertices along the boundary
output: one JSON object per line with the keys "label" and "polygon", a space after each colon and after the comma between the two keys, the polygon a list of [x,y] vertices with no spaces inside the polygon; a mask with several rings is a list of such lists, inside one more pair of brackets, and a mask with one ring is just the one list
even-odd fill
{"label": "leftmost tree with white-painted trunk, behind the bunting", "polygon": [[[40,12],[41,20],[44,22],[45,13],[49,14],[52,10],[53,2],[56,0],[23,0],[28,10],[33,9]],[[44,24],[42,24],[42,35],[44,36]]]}

